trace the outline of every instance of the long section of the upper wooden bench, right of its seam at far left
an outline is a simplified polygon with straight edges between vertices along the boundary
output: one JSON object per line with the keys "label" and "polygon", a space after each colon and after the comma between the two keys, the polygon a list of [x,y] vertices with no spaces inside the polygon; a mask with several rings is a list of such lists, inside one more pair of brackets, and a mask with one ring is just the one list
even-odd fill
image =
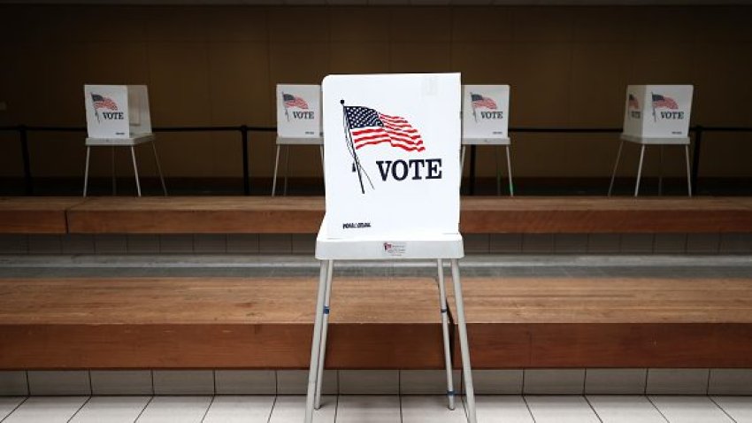
{"label": "long section of the upper wooden bench, right of its seam at far left", "polygon": [[[83,234],[314,234],[321,197],[100,197],[68,211]],[[752,232],[740,197],[464,197],[464,234]]]}

